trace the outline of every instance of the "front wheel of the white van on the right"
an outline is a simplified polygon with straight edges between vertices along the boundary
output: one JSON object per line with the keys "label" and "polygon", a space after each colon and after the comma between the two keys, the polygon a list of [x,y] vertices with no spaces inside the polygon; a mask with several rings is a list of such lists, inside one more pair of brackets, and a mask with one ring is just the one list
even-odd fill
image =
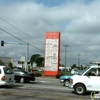
{"label": "front wheel of the white van on the right", "polygon": [[75,86],[75,88],[74,88],[74,91],[75,91],[75,93],[78,94],[78,95],[83,95],[83,94],[85,94],[85,92],[86,92],[86,88],[85,88],[85,86],[82,85],[82,84],[77,84],[77,85]]}

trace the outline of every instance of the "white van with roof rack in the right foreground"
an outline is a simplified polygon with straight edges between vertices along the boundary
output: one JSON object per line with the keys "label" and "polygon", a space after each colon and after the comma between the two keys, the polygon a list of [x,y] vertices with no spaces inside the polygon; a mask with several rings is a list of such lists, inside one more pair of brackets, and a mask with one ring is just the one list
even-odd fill
{"label": "white van with roof rack in the right foreground", "polygon": [[87,67],[81,74],[73,75],[70,78],[69,88],[74,89],[78,95],[83,95],[87,91],[100,92],[100,76],[95,76],[93,72],[98,73],[98,65]]}

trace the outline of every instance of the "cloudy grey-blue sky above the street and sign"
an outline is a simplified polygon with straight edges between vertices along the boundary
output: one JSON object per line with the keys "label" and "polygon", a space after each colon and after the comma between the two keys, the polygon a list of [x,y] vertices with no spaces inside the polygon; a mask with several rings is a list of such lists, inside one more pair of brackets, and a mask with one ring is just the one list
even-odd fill
{"label": "cloudy grey-blue sky above the street and sign", "polygon": [[[0,57],[44,56],[45,33],[59,31],[60,63],[100,61],[100,0],[0,0]],[[7,44],[8,43],[8,44]]]}

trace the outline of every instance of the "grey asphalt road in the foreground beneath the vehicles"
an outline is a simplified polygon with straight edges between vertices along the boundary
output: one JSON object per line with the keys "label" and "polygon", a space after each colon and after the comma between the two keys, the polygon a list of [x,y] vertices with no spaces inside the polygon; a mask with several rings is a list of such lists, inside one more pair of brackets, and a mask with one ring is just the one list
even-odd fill
{"label": "grey asphalt road in the foreground beneath the vehicles", "polygon": [[67,87],[61,86],[59,79],[37,77],[35,82],[15,83],[0,87],[0,100],[91,100],[90,94],[76,95]]}

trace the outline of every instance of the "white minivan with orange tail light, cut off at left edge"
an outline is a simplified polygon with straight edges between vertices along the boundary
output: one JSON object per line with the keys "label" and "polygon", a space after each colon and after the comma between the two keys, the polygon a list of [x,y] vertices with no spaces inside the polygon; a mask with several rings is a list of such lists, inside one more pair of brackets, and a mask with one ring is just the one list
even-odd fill
{"label": "white minivan with orange tail light, cut off at left edge", "polygon": [[15,83],[13,71],[9,67],[0,65],[0,86],[13,83]]}

